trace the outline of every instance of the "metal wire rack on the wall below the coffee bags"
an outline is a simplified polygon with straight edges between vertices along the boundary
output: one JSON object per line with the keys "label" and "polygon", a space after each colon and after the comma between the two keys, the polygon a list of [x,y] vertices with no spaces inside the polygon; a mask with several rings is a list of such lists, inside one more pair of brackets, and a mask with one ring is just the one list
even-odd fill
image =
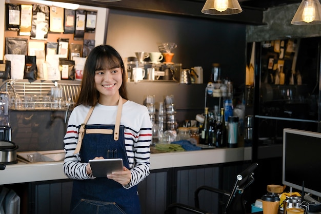
{"label": "metal wire rack on the wall below the coffee bags", "polygon": [[[74,105],[80,91],[80,81],[39,81],[7,80],[3,82],[5,91],[10,95],[10,109],[12,110],[66,110]],[[51,99],[51,88],[62,88],[62,98],[59,101]],[[31,102],[26,100],[31,96]]]}

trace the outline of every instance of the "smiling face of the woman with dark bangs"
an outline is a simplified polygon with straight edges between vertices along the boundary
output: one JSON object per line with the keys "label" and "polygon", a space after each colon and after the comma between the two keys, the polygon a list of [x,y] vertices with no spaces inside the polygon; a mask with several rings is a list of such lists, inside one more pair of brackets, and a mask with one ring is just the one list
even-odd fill
{"label": "smiling face of the woman with dark bangs", "polygon": [[112,68],[110,70],[97,70],[95,71],[95,86],[100,93],[100,98],[111,98],[119,96],[118,89],[123,83],[122,69]]}

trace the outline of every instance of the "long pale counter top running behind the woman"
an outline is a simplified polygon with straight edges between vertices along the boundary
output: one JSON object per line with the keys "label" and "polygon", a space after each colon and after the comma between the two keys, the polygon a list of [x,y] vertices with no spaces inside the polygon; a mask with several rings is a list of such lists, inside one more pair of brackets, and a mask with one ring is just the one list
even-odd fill
{"label": "long pale counter top running behind the woman", "polygon": [[[204,149],[151,154],[151,170],[251,160],[251,147]],[[0,170],[0,185],[68,179],[63,162],[7,165]]]}

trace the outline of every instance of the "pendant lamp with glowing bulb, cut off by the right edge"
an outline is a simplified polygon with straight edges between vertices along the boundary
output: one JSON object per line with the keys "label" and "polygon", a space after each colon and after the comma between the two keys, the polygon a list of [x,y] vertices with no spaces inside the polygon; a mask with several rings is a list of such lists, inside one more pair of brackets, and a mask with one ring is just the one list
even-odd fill
{"label": "pendant lamp with glowing bulb, cut off by the right edge", "polygon": [[321,5],[319,0],[303,0],[294,14],[292,25],[321,24]]}

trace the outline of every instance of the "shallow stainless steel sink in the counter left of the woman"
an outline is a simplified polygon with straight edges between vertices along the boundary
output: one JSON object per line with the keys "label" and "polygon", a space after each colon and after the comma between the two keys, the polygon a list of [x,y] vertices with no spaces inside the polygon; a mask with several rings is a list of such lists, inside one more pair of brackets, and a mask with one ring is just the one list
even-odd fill
{"label": "shallow stainless steel sink in the counter left of the woman", "polygon": [[64,150],[17,152],[17,158],[26,163],[64,161]]}

